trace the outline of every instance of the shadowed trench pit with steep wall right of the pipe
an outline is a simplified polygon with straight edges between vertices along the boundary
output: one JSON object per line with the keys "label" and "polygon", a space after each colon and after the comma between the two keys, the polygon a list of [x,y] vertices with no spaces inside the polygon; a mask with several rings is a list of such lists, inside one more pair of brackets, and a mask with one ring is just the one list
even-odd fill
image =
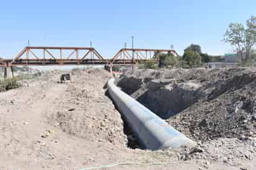
{"label": "shadowed trench pit with steep wall right of the pipe", "polygon": [[124,77],[117,85],[162,119],[169,119],[204,96],[201,86],[192,82]]}

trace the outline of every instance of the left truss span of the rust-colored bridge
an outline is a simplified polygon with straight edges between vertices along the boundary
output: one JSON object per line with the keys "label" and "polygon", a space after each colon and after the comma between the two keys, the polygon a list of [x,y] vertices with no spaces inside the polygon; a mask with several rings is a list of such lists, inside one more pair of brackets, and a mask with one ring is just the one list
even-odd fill
{"label": "left truss span of the rust-colored bridge", "polygon": [[[40,51],[40,54],[36,53],[34,50]],[[52,50],[55,50],[55,52],[58,50],[58,55],[54,54]],[[69,52],[66,56],[63,55],[65,50]],[[80,56],[82,50],[83,56]],[[48,56],[48,58],[46,56]],[[13,60],[9,61],[8,65],[83,65],[94,63],[106,63],[103,56],[94,48],[25,47]]]}

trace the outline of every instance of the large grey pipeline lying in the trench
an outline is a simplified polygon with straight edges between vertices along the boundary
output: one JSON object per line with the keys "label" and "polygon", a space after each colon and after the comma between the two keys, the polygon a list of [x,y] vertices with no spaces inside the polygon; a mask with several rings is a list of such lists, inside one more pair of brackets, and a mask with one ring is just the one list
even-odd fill
{"label": "large grey pipeline lying in the trench", "polygon": [[149,150],[195,146],[194,141],[187,138],[167,122],[155,115],[144,105],[121,91],[114,84],[114,78],[107,82],[109,95],[121,112],[125,121],[135,133],[139,142]]}

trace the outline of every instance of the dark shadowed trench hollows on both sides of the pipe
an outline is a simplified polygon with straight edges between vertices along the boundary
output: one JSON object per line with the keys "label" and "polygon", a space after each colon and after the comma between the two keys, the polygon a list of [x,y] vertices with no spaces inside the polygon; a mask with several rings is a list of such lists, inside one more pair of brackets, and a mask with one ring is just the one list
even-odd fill
{"label": "dark shadowed trench hollows on both sides of the pipe", "polygon": [[[122,78],[116,80],[117,86],[121,87],[122,91],[126,92],[130,96],[134,97],[138,102],[150,109],[162,119],[168,119],[171,115],[175,115],[181,110],[185,109],[191,104],[194,104],[199,96],[194,96],[195,91],[186,91],[186,89],[179,88],[178,86],[170,91],[168,87],[163,88],[167,83],[153,82],[150,78],[135,79],[135,78]],[[147,88],[143,86],[148,84]],[[188,86],[198,87],[194,84],[188,84]],[[182,87],[186,87],[185,84]],[[186,96],[186,93],[190,94]],[[106,96],[111,99],[108,92]],[[170,96],[173,99],[170,100]],[[185,98],[186,96],[186,98]],[[185,98],[185,99],[184,99]],[[173,101],[170,103],[170,101]],[[114,104],[116,107],[116,104]],[[116,107],[118,110],[118,108]],[[127,136],[127,147],[131,149],[144,149],[135,134],[132,132],[126,120],[122,116],[124,121],[124,134]]]}

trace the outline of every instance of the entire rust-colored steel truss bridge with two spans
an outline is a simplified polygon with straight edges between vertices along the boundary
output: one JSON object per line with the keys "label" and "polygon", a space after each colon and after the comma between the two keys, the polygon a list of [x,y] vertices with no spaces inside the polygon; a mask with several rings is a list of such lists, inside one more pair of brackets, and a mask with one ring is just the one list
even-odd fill
{"label": "entire rust-colored steel truss bridge with two spans", "polygon": [[88,47],[25,47],[14,59],[0,60],[0,66],[22,65],[131,65],[147,60],[158,60],[160,52],[175,50],[122,48],[111,59],[106,59],[95,48]]}

